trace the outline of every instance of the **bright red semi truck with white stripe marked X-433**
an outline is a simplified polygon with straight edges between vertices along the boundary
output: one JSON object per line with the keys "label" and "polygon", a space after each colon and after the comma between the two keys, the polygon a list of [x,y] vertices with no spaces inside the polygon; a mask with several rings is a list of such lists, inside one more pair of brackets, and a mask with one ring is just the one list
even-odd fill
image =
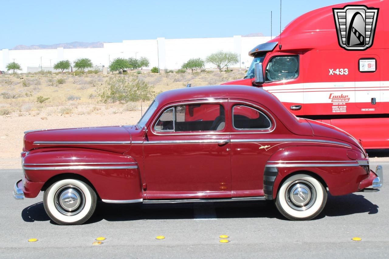
{"label": "bright red semi truck with white stripe marked X-433", "polygon": [[389,148],[388,13],[388,0],[366,0],[303,14],[249,52],[244,79],[224,84],[262,87],[297,117]]}

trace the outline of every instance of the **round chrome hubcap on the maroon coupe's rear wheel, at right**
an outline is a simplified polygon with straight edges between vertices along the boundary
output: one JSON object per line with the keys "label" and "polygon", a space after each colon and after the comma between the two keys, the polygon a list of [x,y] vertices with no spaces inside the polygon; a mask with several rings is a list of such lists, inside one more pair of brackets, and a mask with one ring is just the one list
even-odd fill
{"label": "round chrome hubcap on the maroon coupe's rear wheel, at right", "polygon": [[315,188],[307,181],[297,180],[286,189],[285,199],[295,210],[307,210],[316,200]]}

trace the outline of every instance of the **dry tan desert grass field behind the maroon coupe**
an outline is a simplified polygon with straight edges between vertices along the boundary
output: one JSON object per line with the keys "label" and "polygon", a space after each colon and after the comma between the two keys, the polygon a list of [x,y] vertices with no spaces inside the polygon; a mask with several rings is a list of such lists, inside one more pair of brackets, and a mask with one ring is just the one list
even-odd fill
{"label": "dry tan desert grass field behind the maroon coupe", "polygon": [[[111,104],[99,103],[98,89],[105,87],[109,77],[130,77],[144,80],[154,87],[156,93],[192,86],[215,85],[244,77],[243,71],[235,72],[194,72],[194,73],[141,73],[126,75],[86,74],[75,76],[71,73],[40,75],[35,73],[0,76],[0,115],[83,115],[117,114],[140,110],[140,103]],[[42,103],[37,97],[49,98]],[[142,104],[147,107],[148,103]]]}

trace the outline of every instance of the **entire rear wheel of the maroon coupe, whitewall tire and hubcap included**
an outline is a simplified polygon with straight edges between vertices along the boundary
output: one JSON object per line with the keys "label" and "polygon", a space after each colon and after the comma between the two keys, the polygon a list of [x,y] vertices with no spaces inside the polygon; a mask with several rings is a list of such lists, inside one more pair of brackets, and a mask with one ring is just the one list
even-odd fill
{"label": "entire rear wheel of the maroon coupe, whitewall tire and hubcap included", "polygon": [[275,205],[284,217],[303,221],[319,215],[326,201],[327,191],[321,182],[310,175],[298,174],[282,184]]}

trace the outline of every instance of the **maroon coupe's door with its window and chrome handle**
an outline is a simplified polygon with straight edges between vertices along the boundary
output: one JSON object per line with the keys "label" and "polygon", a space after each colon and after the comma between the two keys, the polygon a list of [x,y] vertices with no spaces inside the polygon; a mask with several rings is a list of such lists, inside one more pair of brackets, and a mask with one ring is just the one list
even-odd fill
{"label": "maroon coupe's door with its window and chrome handle", "polygon": [[165,106],[144,141],[145,199],[231,198],[227,100]]}

